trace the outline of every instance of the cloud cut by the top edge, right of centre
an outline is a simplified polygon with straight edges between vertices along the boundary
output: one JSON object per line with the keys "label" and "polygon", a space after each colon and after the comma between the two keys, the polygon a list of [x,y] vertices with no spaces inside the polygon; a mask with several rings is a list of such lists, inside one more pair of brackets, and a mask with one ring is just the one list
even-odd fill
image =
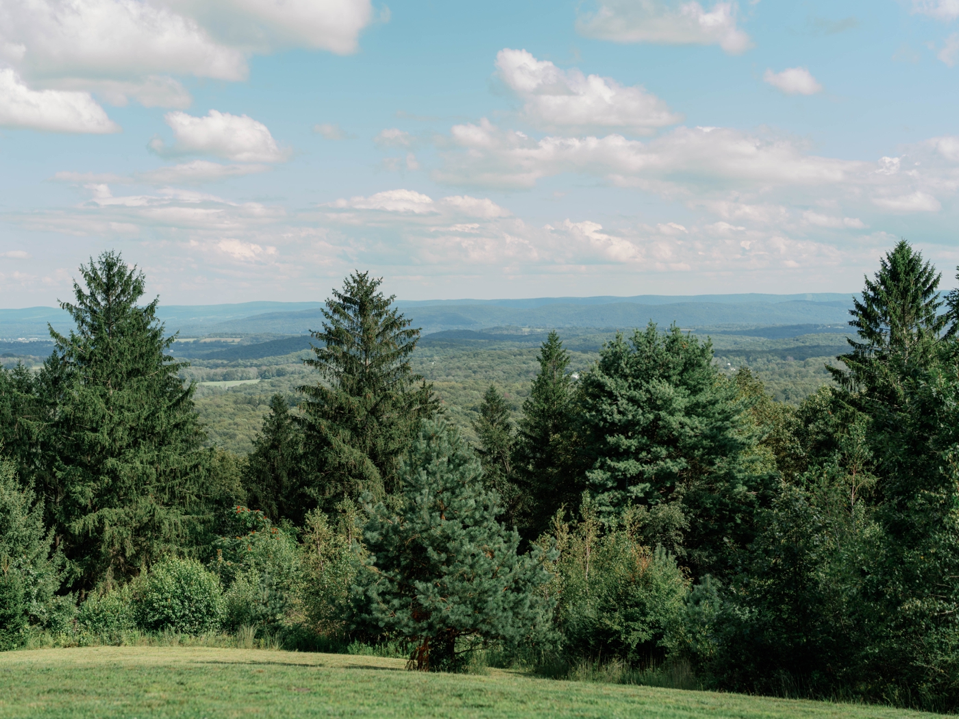
{"label": "cloud cut by the top edge, right of centre", "polygon": [[737,27],[737,4],[716,2],[707,11],[684,0],[599,0],[596,12],[581,14],[581,35],[614,42],[719,45],[737,55],[752,47]]}

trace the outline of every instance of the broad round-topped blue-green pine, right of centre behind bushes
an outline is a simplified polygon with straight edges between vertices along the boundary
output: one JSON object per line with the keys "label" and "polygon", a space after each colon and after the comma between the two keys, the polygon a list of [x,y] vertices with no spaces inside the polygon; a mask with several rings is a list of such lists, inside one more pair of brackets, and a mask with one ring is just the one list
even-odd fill
{"label": "broad round-topped blue-green pine, right of centre behind bushes", "polygon": [[619,522],[634,504],[681,503],[667,516],[674,528],[689,522],[684,544],[696,571],[730,568],[774,469],[753,452],[749,403],[718,375],[712,345],[650,322],[603,347],[582,394],[586,476],[604,521]]}

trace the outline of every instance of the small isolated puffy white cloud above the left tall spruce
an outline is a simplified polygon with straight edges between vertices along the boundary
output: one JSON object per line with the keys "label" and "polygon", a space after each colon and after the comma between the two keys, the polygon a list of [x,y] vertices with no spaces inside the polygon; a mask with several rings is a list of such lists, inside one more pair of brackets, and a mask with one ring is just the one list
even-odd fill
{"label": "small isolated puffy white cloud above the left tall spruce", "polygon": [[166,148],[154,138],[150,144],[160,154],[203,153],[234,162],[282,162],[289,151],[281,151],[269,129],[246,115],[210,110],[206,117],[185,112],[168,112],[164,119],[174,131],[175,144]]}

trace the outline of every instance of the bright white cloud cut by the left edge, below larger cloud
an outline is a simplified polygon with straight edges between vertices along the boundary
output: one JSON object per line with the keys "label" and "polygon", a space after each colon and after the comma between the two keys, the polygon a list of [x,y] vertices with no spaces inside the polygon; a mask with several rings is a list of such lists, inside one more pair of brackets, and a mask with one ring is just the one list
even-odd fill
{"label": "bright white cloud cut by the left edge, below larger cloud", "polygon": [[11,69],[0,70],[0,127],[49,132],[119,132],[89,93],[32,90]]}

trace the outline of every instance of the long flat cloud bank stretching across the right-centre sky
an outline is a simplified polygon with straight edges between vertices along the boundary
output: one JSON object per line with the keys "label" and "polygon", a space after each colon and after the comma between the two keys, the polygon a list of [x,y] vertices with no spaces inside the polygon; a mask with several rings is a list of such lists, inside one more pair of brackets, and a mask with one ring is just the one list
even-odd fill
{"label": "long flat cloud bank stretching across the right-centre sky", "polygon": [[459,151],[446,151],[441,182],[529,188],[547,176],[592,174],[647,189],[691,185],[797,186],[840,182],[863,163],[809,155],[787,138],[729,128],[676,128],[643,143],[621,135],[548,136],[498,128],[485,118],[451,130]]}

